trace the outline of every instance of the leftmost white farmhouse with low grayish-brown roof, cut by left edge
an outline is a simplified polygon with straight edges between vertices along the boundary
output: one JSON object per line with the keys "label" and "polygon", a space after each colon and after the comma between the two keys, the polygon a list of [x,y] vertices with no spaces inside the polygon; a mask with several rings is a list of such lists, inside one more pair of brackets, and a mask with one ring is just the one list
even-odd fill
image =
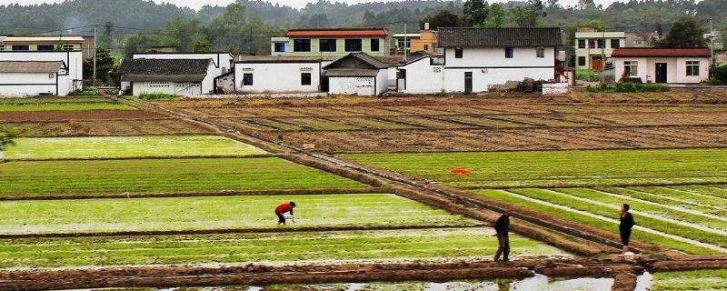
{"label": "leftmost white farmhouse with low grayish-brown roof, cut by left edge", "polygon": [[83,89],[80,51],[6,51],[0,63],[0,95],[65,96]]}

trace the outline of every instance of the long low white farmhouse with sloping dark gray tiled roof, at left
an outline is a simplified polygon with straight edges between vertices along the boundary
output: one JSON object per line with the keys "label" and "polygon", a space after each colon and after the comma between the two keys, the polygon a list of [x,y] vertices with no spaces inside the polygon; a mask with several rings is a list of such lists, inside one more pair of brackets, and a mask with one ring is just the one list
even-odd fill
{"label": "long low white farmhouse with sloping dark gray tiled roof, at left", "polygon": [[131,86],[134,96],[211,94],[214,73],[212,59],[137,58],[124,60],[119,67],[121,81]]}

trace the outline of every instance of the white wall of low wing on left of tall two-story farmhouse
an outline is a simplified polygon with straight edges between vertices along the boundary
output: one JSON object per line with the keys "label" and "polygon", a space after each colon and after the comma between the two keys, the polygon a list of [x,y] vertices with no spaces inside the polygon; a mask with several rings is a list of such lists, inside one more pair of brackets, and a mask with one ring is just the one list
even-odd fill
{"label": "white wall of low wing on left of tall two-story farmhouse", "polygon": [[399,69],[406,70],[406,79],[400,83],[399,92],[430,94],[439,93],[444,88],[443,65],[431,65],[429,56],[400,65]]}

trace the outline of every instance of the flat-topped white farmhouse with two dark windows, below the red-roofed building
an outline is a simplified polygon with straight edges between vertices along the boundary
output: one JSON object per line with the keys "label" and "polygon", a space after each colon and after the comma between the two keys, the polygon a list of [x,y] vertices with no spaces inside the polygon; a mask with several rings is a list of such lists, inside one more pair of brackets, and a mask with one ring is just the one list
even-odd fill
{"label": "flat-topped white farmhouse with two dark windows, below the red-roofed building", "polygon": [[323,66],[332,60],[317,56],[238,56],[234,62],[234,91],[248,94],[322,92]]}

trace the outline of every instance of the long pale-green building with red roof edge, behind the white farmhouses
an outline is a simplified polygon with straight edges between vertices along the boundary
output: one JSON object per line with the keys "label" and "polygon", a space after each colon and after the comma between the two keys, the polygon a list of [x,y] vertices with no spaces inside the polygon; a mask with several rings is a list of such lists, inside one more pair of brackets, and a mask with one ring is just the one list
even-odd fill
{"label": "long pale-green building with red roof edge, behind the white farmhouses", "polygon": [[387,55],[383,28],[291,29],[272,37],[272,55],[344,56],[351,53]]}

